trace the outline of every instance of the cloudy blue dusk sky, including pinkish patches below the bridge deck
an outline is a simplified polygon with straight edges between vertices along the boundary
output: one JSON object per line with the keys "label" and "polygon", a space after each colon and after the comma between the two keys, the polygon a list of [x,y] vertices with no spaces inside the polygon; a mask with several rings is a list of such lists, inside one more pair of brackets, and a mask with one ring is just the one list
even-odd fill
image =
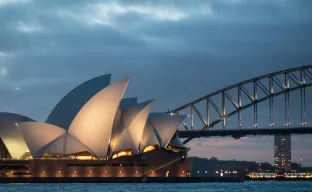
{"label": "cloudy blue dusk sky, including pinkish patches below the bridge deck", "polygon": [[[311,64],[310,0],[0,0],[0,110],[44,121],[94,76],[166,111],[265,73]],[[312,123],[312,120],[311,120]],[[293,160],[312,165],[311,136]],[[273,161],[272,137],[194,140],[190,155]]]}

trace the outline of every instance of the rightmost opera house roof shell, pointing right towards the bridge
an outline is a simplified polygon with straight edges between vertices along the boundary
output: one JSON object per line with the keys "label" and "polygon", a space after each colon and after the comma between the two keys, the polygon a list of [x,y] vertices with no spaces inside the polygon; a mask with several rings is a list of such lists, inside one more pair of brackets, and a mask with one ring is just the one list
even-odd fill
{"label": "rightmost opera house roof shell, pointing right towards the bridge", "polygon": [[149,121],[159,134],[161,148],[166,148],[175,132],[187,116],[170,115],[168,113],[151,113]]}

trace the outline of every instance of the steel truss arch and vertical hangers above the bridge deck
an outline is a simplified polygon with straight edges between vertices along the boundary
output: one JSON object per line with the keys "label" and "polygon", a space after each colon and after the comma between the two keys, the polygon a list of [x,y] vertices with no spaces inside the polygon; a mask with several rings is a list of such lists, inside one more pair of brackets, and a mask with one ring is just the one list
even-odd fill
{"label": "steel truss arch and vertical hangers above the bridge deck", "polygon": [[[222,90],[216,91],[209,95],[206,95],[200,99],[197,99],[191,103],[188,103],[182,107],[170,111],[171,113],[180,114],[181,111],[190,109],[190,126],[183,122],[183,126],[190,134],[183,134],[185,137],[189,135],[188,139],[184,143],[189,142],[195,137],[207,136],[207,131],[212,129],[215,125],[222,123],[223,131],[226,128],[226,119],[233,115],[238,117],[238,131],[242,129],[242,111],[253,107],[253,121],[254,128],[258,128],[258,104],[269,100],[269,127],[274,127],[274,98],[280,95],[285,95],[285,127],[290,127],[290,92],[300,91],[301,102],[301,127],[306,127],[306,88],[312,86],[312,65],[297,67],[287,70],[282,70],[275,73],[266,74],[260,77],[256,77],[241,83],[226,87]],[[266,82],[266,83],[264,83]],[[251,89],[246,88],[250,86]],[[262,95],[259,94],[261,91]],[[237,99],[233,99],[232,94],[229,92],[236,92]],[[243,96],[247,97],[249,102],[242,102]],[[219,97],[221,99],[221,107],[213,101],[213,98]],[[234,107],[234,110],[227,112],[226,101]],[[195,106],[198,103],[205,103],[206,116]],[[215,120],[210,119],[210,113],[214,110],[219,115],[219,118]],[[194,130],[194,115],[202,122],[203,127],[201,131]],[[193,134],[192,134],[192,133]],[[197,132],[197,133],[196,133]]]}

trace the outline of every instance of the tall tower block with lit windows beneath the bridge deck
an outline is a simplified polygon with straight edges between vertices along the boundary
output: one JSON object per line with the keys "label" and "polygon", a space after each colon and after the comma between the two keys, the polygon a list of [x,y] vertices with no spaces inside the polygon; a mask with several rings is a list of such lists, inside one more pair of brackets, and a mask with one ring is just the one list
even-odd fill
{"label": "tall tower block with lit windows beneath the bridge deck", "polygon": [[278,169],[291,169],[291,135],[274,136],[274,165]]}

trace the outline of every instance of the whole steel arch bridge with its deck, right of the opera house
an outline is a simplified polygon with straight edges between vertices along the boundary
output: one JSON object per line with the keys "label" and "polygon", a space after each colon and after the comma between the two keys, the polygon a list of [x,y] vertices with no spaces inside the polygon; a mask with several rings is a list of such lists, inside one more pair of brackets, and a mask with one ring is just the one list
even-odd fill
{"label": "whole steel arch bridge with its deck, right of the opera house", "polygon": [[[211,136],[239,139],[248,135],[312,134],[306,100],[311,86],[312,65],[297,67],[226,87],[169,112],[188,115],[183,129],[177,132],[179,138],[186,139],[184,144]],[[297,110],[292,110],[291,105]],[[297,124],[290,123],[293,111]],[[275,123],[277,114],[283,116],[278,117],[284,121],[282,126]],[[252,121],[249,125],[244,124],[244,116]],[[229,119],[231,123],[227,123]]]}

